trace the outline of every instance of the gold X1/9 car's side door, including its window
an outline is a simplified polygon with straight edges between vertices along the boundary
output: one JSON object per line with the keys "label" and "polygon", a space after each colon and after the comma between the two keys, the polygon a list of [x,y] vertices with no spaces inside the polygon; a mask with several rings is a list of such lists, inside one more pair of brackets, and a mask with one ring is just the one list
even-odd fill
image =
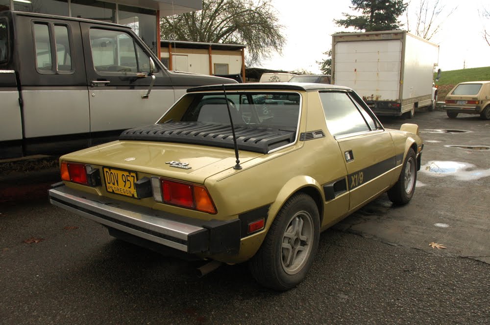
{"label": "gold X1/9 car's side door, including its window", "polygon": [[388,189],[395,167],[392,137],[362,100],[349,91],[320,93],[327,128],[335,137],[347,169],[349,210]]}

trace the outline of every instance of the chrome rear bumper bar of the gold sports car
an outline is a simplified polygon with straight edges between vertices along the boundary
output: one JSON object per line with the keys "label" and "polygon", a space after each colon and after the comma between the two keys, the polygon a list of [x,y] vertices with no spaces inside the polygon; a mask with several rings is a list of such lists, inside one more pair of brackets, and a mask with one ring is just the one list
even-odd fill
{"label": "chrome rear bumper bar of the gold sports car", "polygon": [[[184,252],[187,252],[188,245],[177,241],[187,241],[190,234],[204,229],[202,227],[167,220],[161,217],[149,216],[143,213],[117,208],[98,201],[64,193],[57,189],[49,190],[49,201],[51,204],[71,211],[82,217],[87,217],[91,220],[97,221],[103,225],[107,225],[129,234],[158,242]],[[176,238],[176,241],[153,236],[143,231],[104,219],[103,217],[98,217],[97,215],[107,216],[123,223],[134,225],[138,228],[143,228],[148,230],[150,233],[155,232],[170,236]]]}

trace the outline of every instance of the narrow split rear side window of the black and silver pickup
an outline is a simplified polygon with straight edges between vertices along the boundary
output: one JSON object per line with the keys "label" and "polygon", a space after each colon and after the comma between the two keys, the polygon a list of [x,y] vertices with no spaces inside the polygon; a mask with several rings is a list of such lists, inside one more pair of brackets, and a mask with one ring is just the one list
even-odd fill
{"label": "narrow split rear side window of the black and silver pickup", "polygon": [[[70,32],[67,25],[35,22],[36,68],[40,73],[66,74],[73,71]],[[54,38],[54,42],[53,41]],[[54,48],[52,44],[54,43]],[[53,58],[55,58],[53,60]],[[53,66],[53,63],[55,64]]]}

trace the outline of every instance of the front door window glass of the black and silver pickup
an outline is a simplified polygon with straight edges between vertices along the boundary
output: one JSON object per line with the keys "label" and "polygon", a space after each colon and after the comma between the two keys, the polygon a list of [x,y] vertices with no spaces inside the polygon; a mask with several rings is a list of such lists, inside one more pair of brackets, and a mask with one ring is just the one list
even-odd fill
{"label": "front door window glass of the black and silver pickup", "polygon": [[127,33],[92,28],[90,43],[98,72],[149,72],[149,56]]}

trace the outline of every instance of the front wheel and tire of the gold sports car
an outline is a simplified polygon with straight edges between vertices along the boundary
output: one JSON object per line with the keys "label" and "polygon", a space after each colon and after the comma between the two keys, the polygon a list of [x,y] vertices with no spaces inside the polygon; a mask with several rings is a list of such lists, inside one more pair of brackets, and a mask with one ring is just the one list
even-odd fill
{"label": "front wheel and tire of the gold sports car", "polygon": [[417,183],[417,156],[410,149],[405,157],[398,181],[388,191],[388,198],[397,205],[407,204],[414,196]]}

